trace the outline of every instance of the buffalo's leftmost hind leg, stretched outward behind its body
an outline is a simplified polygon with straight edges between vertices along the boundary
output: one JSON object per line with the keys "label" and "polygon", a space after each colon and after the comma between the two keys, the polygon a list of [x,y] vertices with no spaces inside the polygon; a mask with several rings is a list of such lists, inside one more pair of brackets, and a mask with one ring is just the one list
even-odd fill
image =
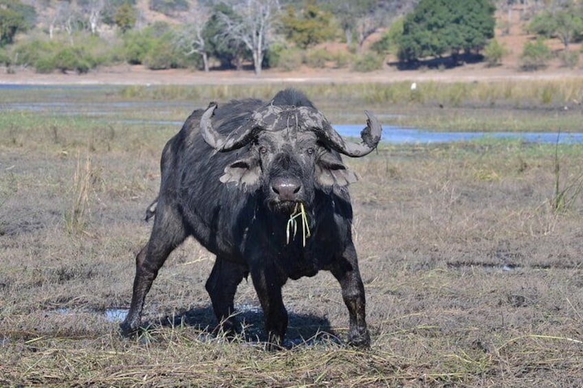
{"label": "buffalo's leftmost hind leg, stretched outward behind its body", "polygon": [[179,222],[180,218],[176,214],[172,211],[163,212],[158,206],[150,240],[135,257],[131,305],[126,319],[120,323],[124,335],[132,334],[140,328],[146,294],[168,255],[186,238],[184,227]]}

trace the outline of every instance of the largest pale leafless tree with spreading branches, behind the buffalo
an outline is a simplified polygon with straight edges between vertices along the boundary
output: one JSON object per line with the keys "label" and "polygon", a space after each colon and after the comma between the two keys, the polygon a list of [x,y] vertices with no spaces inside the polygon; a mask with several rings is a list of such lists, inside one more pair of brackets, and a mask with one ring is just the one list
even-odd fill
{"label": "largest pale leafless tree with spreading branches, behind the buffalo", "polygon": [[240,41],[253,56],[255,74],[261,74],[263,56],[273,42],[273,29],[279,12],[278,0],[228,0],[237,18],[221,14],[227,29],[225,35]]}

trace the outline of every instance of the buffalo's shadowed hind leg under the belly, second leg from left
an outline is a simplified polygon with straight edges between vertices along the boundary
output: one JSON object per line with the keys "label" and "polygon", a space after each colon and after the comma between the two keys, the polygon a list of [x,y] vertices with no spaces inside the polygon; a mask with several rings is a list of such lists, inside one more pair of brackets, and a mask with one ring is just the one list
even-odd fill
{"label": "buffalo's shadowed hind leg under the belly, second leg from left", "polygon": [[237,286],[247,274],[246,266],[229,262],[217,256],[206,281],[206,290],[212,301],[214,315],[219,321],[219,328],[225,333],[234,334],[236,332],[233,299]]}

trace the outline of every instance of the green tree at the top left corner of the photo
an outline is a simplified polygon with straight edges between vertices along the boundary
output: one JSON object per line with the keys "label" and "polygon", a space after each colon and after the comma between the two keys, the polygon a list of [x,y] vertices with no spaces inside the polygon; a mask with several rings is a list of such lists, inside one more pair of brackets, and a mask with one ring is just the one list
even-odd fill
{"label": "green tree at the top left corner of the photo", "polygon": [[34,7],[19,0],[0,0],[0,47],[13,42],[17,32],[34,25]]}

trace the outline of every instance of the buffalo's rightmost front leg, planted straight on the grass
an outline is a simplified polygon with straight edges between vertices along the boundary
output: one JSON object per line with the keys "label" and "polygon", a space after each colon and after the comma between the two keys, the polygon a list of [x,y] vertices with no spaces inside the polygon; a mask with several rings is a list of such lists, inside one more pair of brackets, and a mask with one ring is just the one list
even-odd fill
{"label": "buffalo's rightmost front leg, planted straight on the grass", "polygon": [[358,262],[354,245],[350,244],[340,261],[331,269],[332,274],[342,288],[342,299],[350,317],[348,341],[351,345],[367,347],[371,343],[369,330],[366,328],[364,286],[358,271]]}

